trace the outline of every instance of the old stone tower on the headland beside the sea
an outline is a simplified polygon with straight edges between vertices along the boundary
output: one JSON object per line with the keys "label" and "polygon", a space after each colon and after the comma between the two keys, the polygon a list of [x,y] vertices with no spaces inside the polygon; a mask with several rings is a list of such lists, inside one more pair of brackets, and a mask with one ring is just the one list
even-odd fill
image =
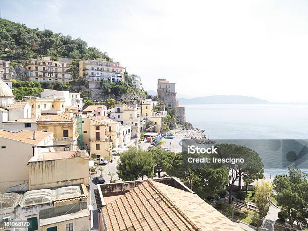
{"label": "old stone tower on the headland beside the sea", "polygon": [[157,96],[165,104],[165,109],[174,108],[181,123],[186,122],[185,107],[179,106],[176,100],[175,83],[169,83],[166,79],[159,79],[157,84]]}

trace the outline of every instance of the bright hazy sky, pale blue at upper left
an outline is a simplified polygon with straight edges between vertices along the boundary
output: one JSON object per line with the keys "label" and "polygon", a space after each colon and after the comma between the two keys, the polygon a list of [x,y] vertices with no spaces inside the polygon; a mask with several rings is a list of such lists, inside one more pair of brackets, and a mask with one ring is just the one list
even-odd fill
{"label": "bright hazy sky, pale blue at upper left", "polygon": [[0,0],[2,17],[80,37],[145,90],[308,102],[308,1]]}

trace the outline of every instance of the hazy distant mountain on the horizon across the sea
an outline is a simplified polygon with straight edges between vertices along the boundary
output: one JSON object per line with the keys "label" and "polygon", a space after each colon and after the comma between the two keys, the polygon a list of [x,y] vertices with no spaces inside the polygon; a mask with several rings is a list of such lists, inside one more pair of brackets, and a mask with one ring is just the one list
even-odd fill
{"label": "hazy distant mountain on the horizon across the sea", "polygon": [[267,100],[249,96],[202,96],[192,99],[179,98],[180,104],[267,104]]}

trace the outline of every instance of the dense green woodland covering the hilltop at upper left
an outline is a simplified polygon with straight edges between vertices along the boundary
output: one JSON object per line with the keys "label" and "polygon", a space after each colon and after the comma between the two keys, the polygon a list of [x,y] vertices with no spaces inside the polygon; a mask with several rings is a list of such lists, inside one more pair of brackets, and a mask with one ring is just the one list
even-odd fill
{"label": "dense green woodland covering the hilltop at upper left", "polygon": [[30,29],[25,24],[14,23],[0,19],[0,57],[7,59],[29,59],[37,55],[48,55],[68,58],[109,58],[95,47],[80,38],[72,39],[71,36],[53,33],[51,30],[39,31]]}

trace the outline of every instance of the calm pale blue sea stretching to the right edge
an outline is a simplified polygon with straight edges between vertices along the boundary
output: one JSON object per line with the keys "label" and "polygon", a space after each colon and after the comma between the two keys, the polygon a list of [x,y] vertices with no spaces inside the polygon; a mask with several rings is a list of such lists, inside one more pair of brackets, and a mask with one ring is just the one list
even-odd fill
{"label": "calm pale blue sea stretching to the right edge", "polygon": [[[209,139],[258,139],[259,141],[254,143],[253,149],[258,151],[263,161],[266,178],[274,178],[276,174],[287,173],[287,167],[281,161],[283,157],[278,158],[279,160],[276,161],[277,157],[272,152],[267,151],[269,142],[277,143],[281,140],[295,139],[300,140],[299,142],[304,146],[308,143],[308,104],[203,104],[181,106],[186,107],[186,120],[191,122],[194,128],[203,129]],[[290,144],[287,145],[290,146]],[[301,160],[299,168],[308,173],[308,148],[302,148],[295,152],[295,155],[304,156],[304,158],[299,159]]]}

